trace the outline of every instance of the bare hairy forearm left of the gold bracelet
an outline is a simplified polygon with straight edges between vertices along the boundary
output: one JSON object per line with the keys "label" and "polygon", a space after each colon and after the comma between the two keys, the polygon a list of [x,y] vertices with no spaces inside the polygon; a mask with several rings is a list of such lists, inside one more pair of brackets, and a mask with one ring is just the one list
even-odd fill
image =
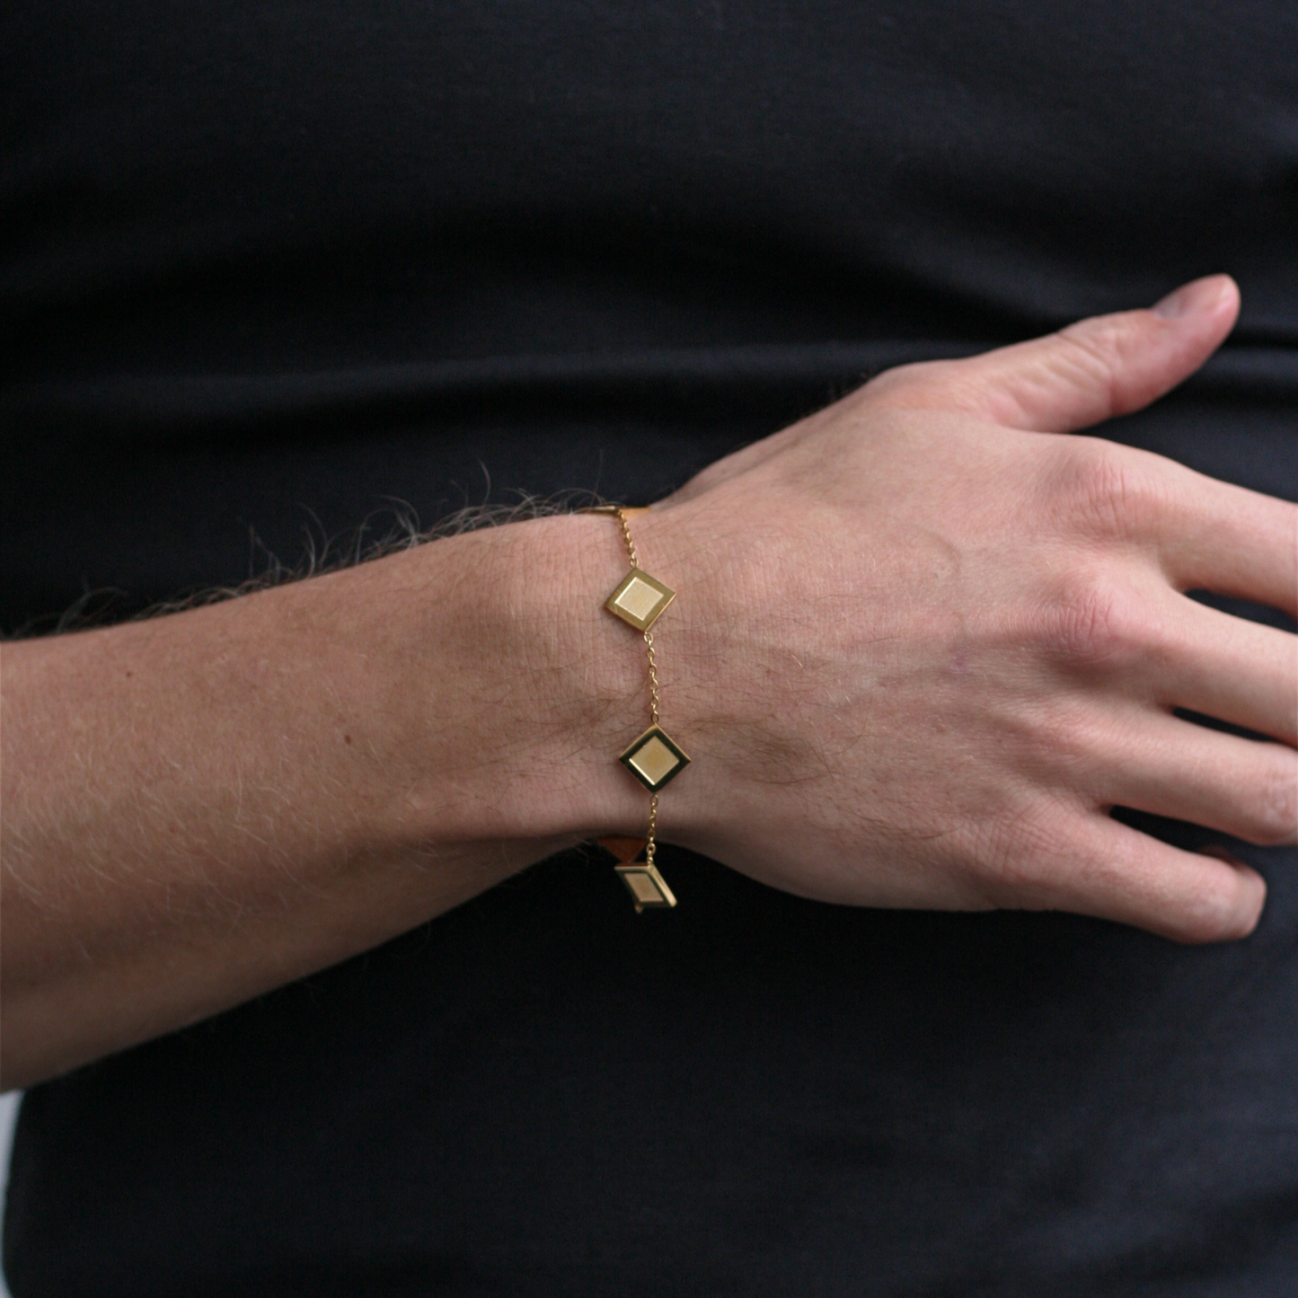
{"label": "bare hairy forearm left of the gold bracelet", "polygon": [[4,650],[4,1084],[322,968],[643,815],[602,520]]}

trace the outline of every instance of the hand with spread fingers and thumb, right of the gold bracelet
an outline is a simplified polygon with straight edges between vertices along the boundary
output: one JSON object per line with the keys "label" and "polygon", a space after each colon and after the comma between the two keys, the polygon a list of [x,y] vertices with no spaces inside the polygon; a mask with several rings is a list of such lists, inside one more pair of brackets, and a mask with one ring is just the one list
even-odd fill
{"label": "hand with spread fingers and thumb, right of the gold bracelet", "polygon": [[[637,519],[680,597],[663,723],[694,758],[665,836],[809,897],[1059,909],[1240,937],[1266,887],[1110,818],[1298,832],[1298,509],[1066,436],[1229,332],[1234,284],[905,366]],[[1210,731],[1173,709],[1272,736]]]}

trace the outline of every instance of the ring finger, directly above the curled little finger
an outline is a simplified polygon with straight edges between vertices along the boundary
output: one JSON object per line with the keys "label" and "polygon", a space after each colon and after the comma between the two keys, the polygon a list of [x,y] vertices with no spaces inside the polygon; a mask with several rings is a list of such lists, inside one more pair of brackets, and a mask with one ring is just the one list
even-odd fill
{"label": "ring finger, directly above the curled little finger", "polygon": [[1245,842],[1298,842],[1298,753],[1176,716],[1146,718],[1086,783],[1097,803],[1220,829]]}

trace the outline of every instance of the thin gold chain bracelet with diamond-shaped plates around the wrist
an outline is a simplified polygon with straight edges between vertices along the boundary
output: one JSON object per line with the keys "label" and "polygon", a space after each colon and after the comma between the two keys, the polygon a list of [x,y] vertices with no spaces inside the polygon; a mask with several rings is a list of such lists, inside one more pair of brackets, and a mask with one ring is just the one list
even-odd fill
{"label": "thin gold chain bracelet with diamond-shaped plates around the wrist", "polygon": [[[628,518],[632,514],[643,514],[643,509],[597,505],[592,509],[584,509],[582,513],[609,514],[617,518],[622,526],[622,537],[627,543],[631,571],[622,579],[613,594],[604,601],[604,606],[644,636],[645,658],[649,667],[649,728],[632,740],[618,758],[649,790],[649,836],[646,839],[600,839],[600,846],[611,851],[620,862],[617,871],[627,885],[637,912],[646,906],[671,907],[676,905],[676,898],[667,887],[667,880],[658,874],[653,859],[658,846],[658,792],[689,766],[689,758],[658,724],[658,659],[654,657],[650,627],[662,617],[667,605],[676,598],[676,592],[640,567],[636,543],[631,539]],[[644,861],[640,859],[641,851]]]}

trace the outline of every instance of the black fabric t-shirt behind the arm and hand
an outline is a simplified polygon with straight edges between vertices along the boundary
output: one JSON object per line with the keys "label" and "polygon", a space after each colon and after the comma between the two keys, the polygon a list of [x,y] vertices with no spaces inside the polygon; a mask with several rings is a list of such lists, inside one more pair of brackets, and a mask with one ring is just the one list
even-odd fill
{"label": "black fabric t-shirt behind the arm and hand", "polygon": [[[1105,435],[1298,497],[1281,0],[18,0],[0,51],[6,630],[397,509],[652,498],[1219,270],[1233,339]],[[9,1282],[1292,1294],[1298,854],[1234,850],[1269,903],[1203,950],[671,849],[636,916],[556,858],[35,1088]]]}

